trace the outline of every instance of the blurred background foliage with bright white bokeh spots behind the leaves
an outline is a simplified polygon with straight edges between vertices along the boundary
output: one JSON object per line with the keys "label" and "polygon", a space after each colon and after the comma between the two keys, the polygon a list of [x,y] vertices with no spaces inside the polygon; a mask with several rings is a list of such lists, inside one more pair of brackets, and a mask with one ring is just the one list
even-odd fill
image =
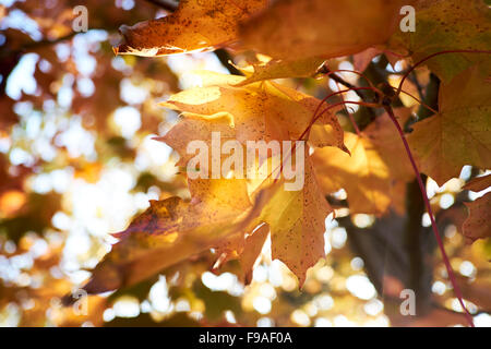
{"label": "blurred background foliage with bright white bokeh spots behind the leaves", "polygon": [[[399,208],[380,219],[348,215],[343,191],[330,197],[338,209],[336,219],[326,219],[327,256],[309,272],[302,290],[284,264],[271,261],[266,243],[247,286],[237,276],[237,261],[216,268],[219,256],[208,251],[131,288],[89,297],[87,315],[63,308],[61,297],[89,276],[116,241],[110,233],[123,230],[148,200],[189,198],[173,166],[177,155],[152,140],[178,118],[157,101],[193,86],[190,71],[237,72],[228,59],[240,65],[250,55],[116,57],[111,46],[118,27],[166,15],[166,5],[87,0],[88,32],[74,33],[79,4],[0,1],[0,325],[465,324],[422,203],[404,188],[395,194]],[[347,57],[330,67],[352,69],[352,63]],[[395,85],[406,68],[393,68],[379,56],[364,74]],[[363,84],[355,74],[342,75]],[[430,96],[434,79],[419,69],[406,91]],[[320,98],[336,91],[326,79],[284,83]],[[400,105],[418,111],[410,98],[403,97]],[[363,107],[354,111],[360,125],[374,118]],[[350,130],[345,115],[339,120]],[[459,179],[442,188],[429,180],[428,191],[468,308],[477,325],[490,326],[491,243],[466,245],[459,231],[466,217],[463,202],[476,197],[460,189],[476,174],[464,168]],[[400,315],[404,288],[416,290],[418,316]]]}

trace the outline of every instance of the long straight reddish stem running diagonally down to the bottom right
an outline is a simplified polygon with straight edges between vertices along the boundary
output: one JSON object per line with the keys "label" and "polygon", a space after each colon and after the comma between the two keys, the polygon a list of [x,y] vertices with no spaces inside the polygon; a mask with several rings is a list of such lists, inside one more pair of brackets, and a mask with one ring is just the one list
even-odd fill
{"label": "long straight reddish stem running diagonally down to the bottom right", "polygon": [[396,127],[397,132],[399,133],[400,140],[404,143],[404,147],[406,148],[407,156],[409,157],[409,160],[411,163],[412,169],[415,170],[416,180],[418,181],[419,189],[421,191],[421,195],[422,195],[423,201],[424,201],[424,205],[427,206],[428,215],[430,216],[430,220],[431,220],[431,227],[433,229],[433,232],[434,232],[434,236],[435,236],[435,239],[436,239],[440,252],[442,253],[443,263],[445,264],[446,272],[448,273],[448,278],[450,278],[450,280],[452,282],[452,286],[454,288],[455,296],[457,297],[458,302],[460,303],[460,306],[462,306],[462,309],[465,312],[465,316],[466,316],[469,325],[471,327],[474,327],[472,316],[470,316],[469,311],[467,310],[466,305],[464,304],[464,300],[463,300],[463,296],[462,296],[462,292],[460,292],[460,288],[458,287],[457,281],[455,280],[454,270],[452,269],[452,265],[451,265],[451,263],[448,261],[448,256],[446,255],[445,248],[443,245],[443,240],[442,240],[442,237],[440,236],[439,228],[436,227],[436,221],[435,221],[434,216],[433,216],[433,210],[431,209],[430,201],[429,201],[428,195],[427,195],[427,190],[424,189],[424,184],[423,184],[423,182],[421,180],[421,173],[419,172],[418,166],[416,165],[415,158],[412,157],[411,151],[409,148],[409,144],[407,143],[407,140],[406,140],[406,136],[404,134],[403,129],[400,128],[399,123],[397,122],[397,119],[396,119],[396,117],[394,115],[394,111],[393,111],[392,107],[391,106],[384,106],[384,109],[387,112],[387,115],[391,118],[391,120],[394,123],[394,125]]}

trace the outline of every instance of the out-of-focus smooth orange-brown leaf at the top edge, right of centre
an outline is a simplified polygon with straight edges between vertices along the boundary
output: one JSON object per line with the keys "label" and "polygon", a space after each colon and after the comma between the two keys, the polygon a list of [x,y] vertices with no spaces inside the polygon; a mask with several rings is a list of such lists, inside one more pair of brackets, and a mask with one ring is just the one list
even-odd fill
{"label": "out-of-focus smooth orange-brown leaf at the top edge, right of centre", "polygon": [[247,47],[276,59],[347,56],[387,40],[403,4],[408,1],[276,1],[246,22],[240,36]]}

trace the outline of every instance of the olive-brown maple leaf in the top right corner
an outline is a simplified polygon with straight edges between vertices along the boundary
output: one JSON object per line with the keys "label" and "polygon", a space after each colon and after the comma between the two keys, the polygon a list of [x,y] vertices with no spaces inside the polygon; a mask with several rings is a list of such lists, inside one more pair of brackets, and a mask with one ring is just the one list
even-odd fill
{"label": "olive-brown maple leaf in the top right corner", "polygon": [[[491,11],[482,0],[420,0],[417,2],[416,31],[395,32],[388,48],[410,55],[417,62],[447,50],[489,50]],[[426,62],[441,80],[448,82],[489,53],[448,53]]]}

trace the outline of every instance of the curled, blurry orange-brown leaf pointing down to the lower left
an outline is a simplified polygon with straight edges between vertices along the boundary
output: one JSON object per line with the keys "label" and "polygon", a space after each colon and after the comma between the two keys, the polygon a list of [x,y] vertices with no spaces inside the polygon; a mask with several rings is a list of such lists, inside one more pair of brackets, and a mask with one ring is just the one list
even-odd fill
{"label": "curled, blurry orange-brown leaf pointing down to the lower left", "polygon": [[151,201],[94,268],[84,289],[99,293],[139,282],[177,262],[219,245],[243,229],[251,208],[246,181],[190,181],[192,200]]}

